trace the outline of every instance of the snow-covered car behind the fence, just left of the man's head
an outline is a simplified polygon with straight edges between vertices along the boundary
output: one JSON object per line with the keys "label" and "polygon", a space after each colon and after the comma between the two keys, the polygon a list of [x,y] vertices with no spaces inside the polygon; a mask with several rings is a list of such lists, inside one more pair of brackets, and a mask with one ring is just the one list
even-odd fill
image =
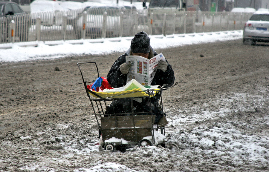
{"label": "snow-covered car behind the fence, just left of the man's head", "polygon": [[[91,38],[98,38],[102,36],[103,15],[107,13],[106,34],[107,37],[117,37],[120,34],[120,13],[126,10],[124,6],[119,5],[102,5],[86,7],[84,12],[86,14],[86,23],[84,25],[83,17],[80,15],[77,19],[76,34],[77,39],[82,37],[82,29],[85,29],[86,35]],[[123,17],[123,22],[127,22]]]}

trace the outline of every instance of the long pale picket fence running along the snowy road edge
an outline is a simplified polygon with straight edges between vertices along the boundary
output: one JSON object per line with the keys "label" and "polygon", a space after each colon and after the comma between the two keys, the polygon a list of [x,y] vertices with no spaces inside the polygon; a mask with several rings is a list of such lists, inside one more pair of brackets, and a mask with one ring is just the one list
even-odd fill
{"label": "long pale picket fence running along the snowy road edge", "polygon": [[0,44],[241,30],[252,13],[73,10],[0,18]]}

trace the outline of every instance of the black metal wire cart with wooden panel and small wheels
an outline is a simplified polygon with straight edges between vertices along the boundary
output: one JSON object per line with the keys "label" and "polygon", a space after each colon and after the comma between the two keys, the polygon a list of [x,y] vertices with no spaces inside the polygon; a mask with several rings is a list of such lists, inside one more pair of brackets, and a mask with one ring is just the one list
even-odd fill
{"label": "black metal wire cart with wooden panel and small wheels", "polygon": [[[150,106],[157,103],[158,108],[163,111],[161,96],[163,87],[146,91],[135,88],[114,93],[97,92],[87,87],[99,77],[96,62],[78,62],[77,65],[99,126],[100,145],[105,150],[114,151],[129,145],[165,144],[167,141],[165,127],[155,124],[155,118],[158,116],[154,113],[154,107]],[[88,78],[83,73],[86,73]],[[158,102],[154,102],[156,96],[158,96]],[[143,101],[146,108],[137,107],[139,100]],[[120,108],[119,105],[121,105]]]}

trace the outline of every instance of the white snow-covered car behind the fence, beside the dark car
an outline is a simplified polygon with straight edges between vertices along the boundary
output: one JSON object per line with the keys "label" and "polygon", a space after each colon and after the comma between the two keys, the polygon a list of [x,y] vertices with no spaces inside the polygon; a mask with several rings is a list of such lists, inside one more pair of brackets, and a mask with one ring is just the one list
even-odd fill
{"label": "white snow-covered car behind the fence, beside the dark car", "polygon": [[64,10],[57,1],[35,0],[31,3],[32,19],[41,19],[45,26],[61,25]]}

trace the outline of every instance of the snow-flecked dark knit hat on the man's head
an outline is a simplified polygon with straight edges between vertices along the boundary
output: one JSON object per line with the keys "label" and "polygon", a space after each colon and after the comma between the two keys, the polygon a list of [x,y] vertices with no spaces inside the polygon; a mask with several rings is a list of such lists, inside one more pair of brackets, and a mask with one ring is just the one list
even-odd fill
{"label": "snow-flecked dark knit hat on the man's head", "polygon": [[146,32],[138,32],[131,42],[132,53],[149,53],[150,41]]}

